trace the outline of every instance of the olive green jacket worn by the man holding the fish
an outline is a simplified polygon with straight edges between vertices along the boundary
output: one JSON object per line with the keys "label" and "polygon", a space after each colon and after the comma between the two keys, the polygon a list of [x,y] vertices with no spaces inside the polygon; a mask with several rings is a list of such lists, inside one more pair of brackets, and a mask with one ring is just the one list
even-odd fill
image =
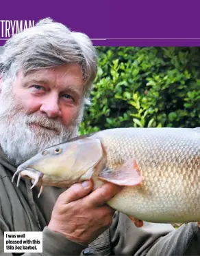
{"label": "olive green jacket worn by the man holding the fish", "polygon": [[[170,224],[145,222],[136,228],[126,215],[116,212],[112,226],[88,246],[77,244],[47,228],[53,205],[64,189],[47,187],[37,198],[39,188],[21,180],[16,187],[12,166],[0,150],[0,255],[4,231],[42,231],[43,253],[37,255],[200,255],[200,229],[196,223],[182,225],[177,231]],[[199,207],[200,211],[200,207]],[[68,220],[70,222],[70,220]],[[13,254],[14,255],[14,254]]]}

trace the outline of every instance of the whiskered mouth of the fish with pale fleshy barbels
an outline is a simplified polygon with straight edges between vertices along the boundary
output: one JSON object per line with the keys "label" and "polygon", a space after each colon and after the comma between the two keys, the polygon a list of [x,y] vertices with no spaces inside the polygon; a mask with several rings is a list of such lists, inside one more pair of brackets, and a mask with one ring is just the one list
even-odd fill
{"label": "whiskered mouth of the fish with pale fleshy barbels", "polygon": [[[17,169],[16,172],[14,173],[14,175],[12,176],[12,182],[14,182],[14,178],[16,177],[16,175],[18,174],[18,179],[17,179],[17,182],[16,182],[16,186],[18,186],[21,178],[26,178],[28,180],[32,180],[32,187],[31,189],[34,188],[34,186],[36,186],[36,184],[38,184],[38,182],[40,180],[42,180],[42,177],[43,177],[43,173],[41,173],[40,171],[36,170],[36,169],[33,169],[33,168],[30,168],[30,167],[27,167],[27,168],[23,168],[23,169]],[[38,198],[40,197],[42,191],[44,189],[44,186],[41,186],[40,188],[40,192],[38,194]]]}

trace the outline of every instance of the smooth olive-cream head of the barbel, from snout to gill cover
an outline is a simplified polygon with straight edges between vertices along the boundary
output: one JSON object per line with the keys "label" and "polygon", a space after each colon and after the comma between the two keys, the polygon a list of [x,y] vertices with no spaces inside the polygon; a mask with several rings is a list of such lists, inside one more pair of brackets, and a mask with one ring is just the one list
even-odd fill
{"label": "smooth olive-cream head of the barbel, from snout to gill cover", "polygon": [[80,138],[44,149],[23,162],[16,173],[37,180],[40,186],[71,186],[89,180],[102,157],[99,139]]}

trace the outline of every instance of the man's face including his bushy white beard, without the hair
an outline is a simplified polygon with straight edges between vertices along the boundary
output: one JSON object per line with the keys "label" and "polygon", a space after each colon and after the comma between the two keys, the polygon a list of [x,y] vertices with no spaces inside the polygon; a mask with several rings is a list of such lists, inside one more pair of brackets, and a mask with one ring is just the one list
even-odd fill
{"label": "man's face including his bushy white beard, without the hair", "polygon": [[[79,65],[18,72],[0,94],[0,145],[16,164],[77,135],[84,81]],[[8,87],[9,88],[9,87]]]}

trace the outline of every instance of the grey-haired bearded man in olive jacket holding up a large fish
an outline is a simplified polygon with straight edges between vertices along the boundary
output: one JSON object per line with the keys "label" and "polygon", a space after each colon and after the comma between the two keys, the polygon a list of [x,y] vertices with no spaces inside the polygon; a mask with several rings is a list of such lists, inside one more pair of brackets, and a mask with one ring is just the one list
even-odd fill
{"label": "grey-haired bearded man in olive jacket holding up a large fish", "polygon": [[[197,223],[136,228],[105,203],[120,188],[92,182],[69,189],[12,183],[16,167],[78,135],[97,74],[90,39],[50,19],[15,34],[0,59],[0,254],[3,232],[42,231],[43,253],[23,255],[199,255]],[[91,192],[92,191],[92,192]],[[12,253],[7,253],[12,255]]]}

